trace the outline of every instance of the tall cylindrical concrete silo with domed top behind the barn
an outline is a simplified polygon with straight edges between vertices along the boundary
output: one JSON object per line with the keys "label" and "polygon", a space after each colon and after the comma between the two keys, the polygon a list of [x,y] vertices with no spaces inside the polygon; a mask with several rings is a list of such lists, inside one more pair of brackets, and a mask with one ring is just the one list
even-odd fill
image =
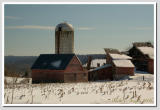
{"label": "tall cylindrical concrete silo with domed top behind the barn", "polygon": [[74,53],[74,29],[71,24],[60,23],[55,29],[55,53]]}

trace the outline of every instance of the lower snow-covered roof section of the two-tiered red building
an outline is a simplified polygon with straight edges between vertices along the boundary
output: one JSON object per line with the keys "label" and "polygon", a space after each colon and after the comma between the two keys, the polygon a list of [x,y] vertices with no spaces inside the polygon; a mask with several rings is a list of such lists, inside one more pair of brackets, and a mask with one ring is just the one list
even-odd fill
{"label": "lower snow-covered roof section of the two-tiered red building", "polygon": [[134,67],[130,60],[113,60],[116,67]]}

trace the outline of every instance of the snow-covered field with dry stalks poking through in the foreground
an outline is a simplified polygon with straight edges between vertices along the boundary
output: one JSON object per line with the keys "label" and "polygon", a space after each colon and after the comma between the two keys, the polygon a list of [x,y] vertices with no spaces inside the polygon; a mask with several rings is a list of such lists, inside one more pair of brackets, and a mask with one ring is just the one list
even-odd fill
{"label": "snow-covered field with dry stalks poking through in the foreground", "polygon": [[121,81],[7,84],[4,89],[4,102],[5,104],[153,104],[153,76],[137,73],[131,77],[132,80]]}

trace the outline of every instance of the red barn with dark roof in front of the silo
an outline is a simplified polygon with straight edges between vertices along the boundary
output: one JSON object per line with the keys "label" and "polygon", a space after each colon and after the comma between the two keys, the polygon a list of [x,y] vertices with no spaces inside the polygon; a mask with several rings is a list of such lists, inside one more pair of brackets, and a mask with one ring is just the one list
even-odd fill
{"label": "red barn with dark roof in front of the silo", "polygon": [[31,70],[33,83],[88,81],[88,73],[75,54],[41,54]]}

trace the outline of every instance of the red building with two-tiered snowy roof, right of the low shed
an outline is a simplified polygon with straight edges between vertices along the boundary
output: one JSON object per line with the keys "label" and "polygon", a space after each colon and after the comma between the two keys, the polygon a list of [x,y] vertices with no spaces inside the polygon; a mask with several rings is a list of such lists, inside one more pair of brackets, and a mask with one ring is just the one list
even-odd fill
{"label": "red building with two-tiered snowy roof, right of the low shed", "polygon": [[124,76],[134,75],[134,65],[130,61],[132,58],[120,53],[116,49],[105,49],[107,64],[112,65],[112,74],[114,79],[120,79]]}

